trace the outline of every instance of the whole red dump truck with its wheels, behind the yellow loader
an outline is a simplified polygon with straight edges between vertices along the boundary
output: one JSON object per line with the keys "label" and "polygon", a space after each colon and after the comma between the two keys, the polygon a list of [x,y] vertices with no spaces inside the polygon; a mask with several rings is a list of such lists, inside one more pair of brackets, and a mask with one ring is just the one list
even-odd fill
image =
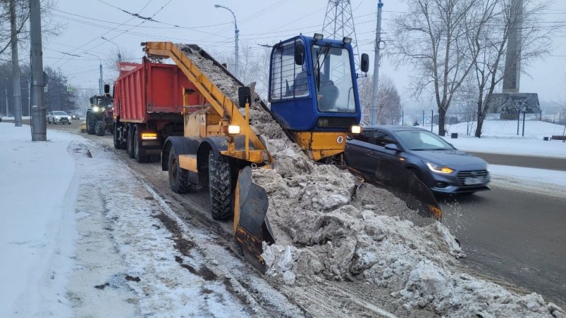
{"label": "whole red dump truck with its wheels, behind the yellow loader", "polygon": [[125,148],[139,163],[159,158],[169,136],[183,136],[183,105],[203,108],[205,99],[189,94],[195,85],[177,65],[143,58],[119,67],[113,91],[114,148]]}

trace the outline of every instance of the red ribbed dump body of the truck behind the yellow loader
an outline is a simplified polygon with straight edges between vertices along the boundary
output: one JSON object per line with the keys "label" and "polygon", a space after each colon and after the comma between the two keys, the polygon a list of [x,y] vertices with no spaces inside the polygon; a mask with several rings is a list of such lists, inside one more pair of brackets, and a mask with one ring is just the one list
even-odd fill
{"label": "red ribbed dump body of the truck behind the yellow loader", "polygon": [[[114,115],[121,122],[147,123],[166,120],[167,113],[183,112],[183,89],[196,87],[177,65],[151,63],[121,63],[120,76],[114,83]],[[199,94],[187,96],[188,105],[202,105]],[[192,99],[192,100],[191,100]]]}

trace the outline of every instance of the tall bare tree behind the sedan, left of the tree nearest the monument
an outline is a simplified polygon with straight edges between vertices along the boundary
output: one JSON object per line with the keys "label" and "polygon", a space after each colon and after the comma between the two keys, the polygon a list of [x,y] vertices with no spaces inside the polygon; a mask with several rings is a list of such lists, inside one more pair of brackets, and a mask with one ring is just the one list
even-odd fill
{"label": "tall bare tree behind the sedan, left of the tree nearest the monument", "polygon": [[393,54],[397,63],[413,65],[415,95],[432,86],[441,136],[445,135],[446,112],[477,58],[466,35],[479,37],[488,22],[474,9],[479,1],[408,0],[409,12],[393,22]]}

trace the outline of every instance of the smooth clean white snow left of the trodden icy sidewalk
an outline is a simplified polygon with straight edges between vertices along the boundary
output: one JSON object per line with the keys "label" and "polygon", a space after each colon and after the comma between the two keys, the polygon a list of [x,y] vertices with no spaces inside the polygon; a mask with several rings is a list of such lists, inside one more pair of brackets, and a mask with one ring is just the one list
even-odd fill
{"label": "smooth clean white snow left of the trodden icy sidewalk", "polygon": [[70,317],[76,137],[49,131],[47,142],[32,142],[29,126],[4,122],[0,135],[0,317]]}

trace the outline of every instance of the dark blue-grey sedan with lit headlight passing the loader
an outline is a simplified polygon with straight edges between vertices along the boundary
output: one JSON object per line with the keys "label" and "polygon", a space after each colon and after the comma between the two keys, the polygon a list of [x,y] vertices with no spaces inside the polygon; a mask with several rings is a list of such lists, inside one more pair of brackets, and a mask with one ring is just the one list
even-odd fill
{"label": "dark blue-grey sedan with lit headlight passing the loader", "polygon": [[347,165],[379,173],[384,160],[411,170],[434,193],[474,193],[489,190],[487,163],[459,151],[425,129],[410,126],[367,126],[346,141]]}

